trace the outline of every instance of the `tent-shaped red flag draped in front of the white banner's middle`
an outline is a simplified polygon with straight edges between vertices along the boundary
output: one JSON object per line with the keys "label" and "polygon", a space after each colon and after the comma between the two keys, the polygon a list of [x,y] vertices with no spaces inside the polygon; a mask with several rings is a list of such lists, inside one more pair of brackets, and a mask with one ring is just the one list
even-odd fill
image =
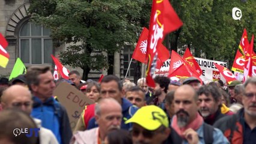
{"label": "tent-shaped red flag draped in front of the white banner's middle", "polygon": [[[197,73],[197,72],[196,72]],[[180,78],[187,78],[187,77],[196,77],[200,80],[200,83],[203,84],[203,80],[200,79],[198,74],[195,71],[190,71],[186,65],[181,64],[180,67],[176,68],[172,73],[169,73],[168,77],[178,77]]]}

